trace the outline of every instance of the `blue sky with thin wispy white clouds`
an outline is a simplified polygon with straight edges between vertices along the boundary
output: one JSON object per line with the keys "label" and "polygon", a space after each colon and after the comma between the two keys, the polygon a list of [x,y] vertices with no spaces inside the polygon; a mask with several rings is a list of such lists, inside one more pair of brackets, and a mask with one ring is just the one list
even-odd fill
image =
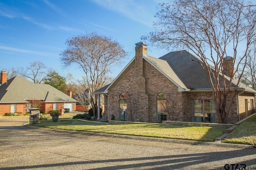
{"label": "blue sky with thin wispy white clouds", "polygon": [[[26,67],[41,61],[61,76],[83,72],[61,65],[68,38],[96,32],[117,40],[130,53],[110,76],[117,76],[135,55],[135,43],[153,30],[157,6],[166,0],[1,0],[0,69]],[[148,55],[167,51],[148,46]]]}

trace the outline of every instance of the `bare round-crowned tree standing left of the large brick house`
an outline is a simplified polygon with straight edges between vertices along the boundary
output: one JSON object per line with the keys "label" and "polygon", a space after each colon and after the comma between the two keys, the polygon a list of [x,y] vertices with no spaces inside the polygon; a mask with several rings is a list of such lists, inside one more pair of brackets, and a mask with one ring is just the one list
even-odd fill
{"label": "bare round-crowned tree standing left of the large brick house", "polygon": [[110,66],[120,63],[127,53],[111,37],[86,33],[66,41],[67,48],[60,54],[65,66],[76,64],[86,77],[94,116],[97,116],[97,94],[92,94],[103,87]]}

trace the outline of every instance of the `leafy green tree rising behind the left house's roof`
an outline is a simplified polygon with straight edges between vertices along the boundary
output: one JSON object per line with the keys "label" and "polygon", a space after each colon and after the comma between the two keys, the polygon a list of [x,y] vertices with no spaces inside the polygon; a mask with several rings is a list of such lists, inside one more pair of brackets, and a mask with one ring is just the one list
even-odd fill
{"label": "leafy green tree rising behind the left house's roof", "polygon": [[66,93],[66,79],[60,76],[56,71],[51,71],[47,74],[47,78],[44,79],[44,84],[50,84],[54,88]]}

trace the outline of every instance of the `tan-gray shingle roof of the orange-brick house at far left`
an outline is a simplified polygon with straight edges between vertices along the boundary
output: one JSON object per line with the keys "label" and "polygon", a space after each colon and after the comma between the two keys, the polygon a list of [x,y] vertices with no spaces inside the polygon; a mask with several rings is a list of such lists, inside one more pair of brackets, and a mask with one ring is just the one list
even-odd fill
{"label": "tan-gray shingle roof of the orange-brick house at far left", "polygon": [[15,76],[0,86],[0,103],[24,103],[36,99],[44,102],[76,102],[49,84],[34,84],[21,76]]}

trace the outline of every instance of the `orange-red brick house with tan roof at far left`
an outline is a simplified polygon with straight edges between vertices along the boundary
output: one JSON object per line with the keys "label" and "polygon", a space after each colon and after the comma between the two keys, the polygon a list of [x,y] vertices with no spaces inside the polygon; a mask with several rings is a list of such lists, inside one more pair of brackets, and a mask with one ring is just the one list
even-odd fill
{"label": "orange-red brick house with tan roof at far left", "polygon": [[32,102],[41,104],[40,111],[69,108],[76,109],[76,100],[49,84],[35,84],[24,77],[15,76],[7,80],[7,72],[0,76],[0,115],[29,111]]}

